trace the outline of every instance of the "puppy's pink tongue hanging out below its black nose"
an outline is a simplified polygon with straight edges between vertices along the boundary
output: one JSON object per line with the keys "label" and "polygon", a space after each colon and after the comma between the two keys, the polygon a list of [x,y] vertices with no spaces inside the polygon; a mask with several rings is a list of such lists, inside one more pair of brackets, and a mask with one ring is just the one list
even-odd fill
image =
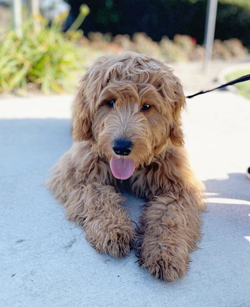
{"label": "puppy's pink tongue hanging out below its black nose", "polygon": [[129,159],[111,158],[110,168],[117,179],[128,179],[133,174],[135,163]]}

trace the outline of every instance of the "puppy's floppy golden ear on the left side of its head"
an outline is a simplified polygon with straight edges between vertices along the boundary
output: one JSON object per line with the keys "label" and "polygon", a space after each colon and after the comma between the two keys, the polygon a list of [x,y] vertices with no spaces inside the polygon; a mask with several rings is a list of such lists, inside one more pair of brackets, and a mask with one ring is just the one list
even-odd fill
{"label": "puppy's floppy golden ear on the left side of its head", "polygon": [[81,81],[81,88],[76,96],[75,114],[73,115],[73,138],[76,142],[87,141],[92,136],[90,107],[86,97],[86,79],[85,75]]}

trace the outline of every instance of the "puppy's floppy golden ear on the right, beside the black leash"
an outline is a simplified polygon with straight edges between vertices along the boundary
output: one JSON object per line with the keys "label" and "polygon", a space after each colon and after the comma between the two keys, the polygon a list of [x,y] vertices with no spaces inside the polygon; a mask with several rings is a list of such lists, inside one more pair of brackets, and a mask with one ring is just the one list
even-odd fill
{"label": "puppy's floppy golden ear on the right, beside the black leash", "polygon": [[172,98],[172,121],[170,125],[169,138],[175,146],[182,146],[183,133],[181,129],[180,113],[186,106],[185,95],[180,80],[173,75],[173,98]]}

